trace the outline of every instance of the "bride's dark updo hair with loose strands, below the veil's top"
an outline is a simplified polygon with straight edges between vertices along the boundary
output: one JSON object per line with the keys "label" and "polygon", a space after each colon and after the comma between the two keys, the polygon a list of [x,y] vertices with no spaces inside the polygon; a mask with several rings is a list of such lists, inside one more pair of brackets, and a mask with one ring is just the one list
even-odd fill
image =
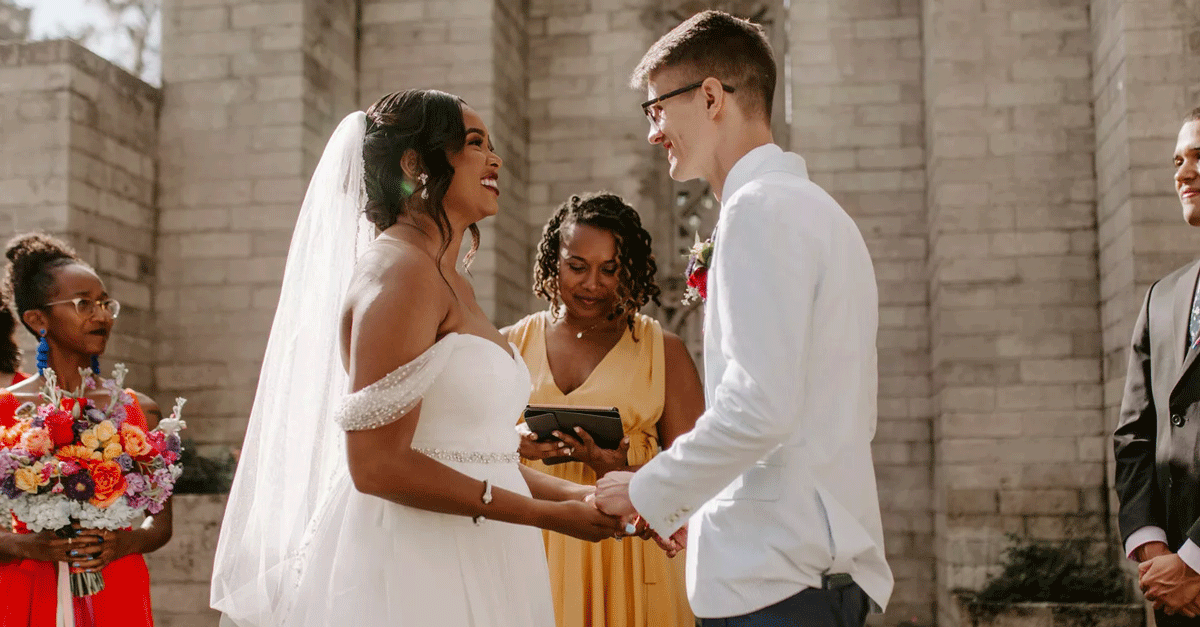
{"label": "bride's dark updo hair with loose strands, below the veil's top", "polygon": [[[433,89],[409,89],[388,94],[367,112],[362,139],[364,184],[367,192],[367,219],[383,231],[401,216],[425,215],[442,234],[442,250],[450,247],[450,220],[443,199],[454,167],[450,155],[463,149],[467,127],[462,106],[467,102],[454,94]],[[420,172],[427,178],[404,180],[401,160],[409,150],[420,157]],[[472,246],[466,261],[479,250],[479,227],[470,225]]]}

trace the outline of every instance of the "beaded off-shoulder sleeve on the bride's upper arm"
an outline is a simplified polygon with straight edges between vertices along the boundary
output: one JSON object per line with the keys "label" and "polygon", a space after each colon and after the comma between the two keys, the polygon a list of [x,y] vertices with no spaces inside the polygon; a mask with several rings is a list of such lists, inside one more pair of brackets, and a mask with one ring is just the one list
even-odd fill
{"label": "beaded off-shoulder sleeve on the bride's upper arm", "polygon": [[448,339],[437,341],[379,381],[346,395],[334,420],[346,431],[364,431],[391,424],[410,412],[445,368],[451,351]]}

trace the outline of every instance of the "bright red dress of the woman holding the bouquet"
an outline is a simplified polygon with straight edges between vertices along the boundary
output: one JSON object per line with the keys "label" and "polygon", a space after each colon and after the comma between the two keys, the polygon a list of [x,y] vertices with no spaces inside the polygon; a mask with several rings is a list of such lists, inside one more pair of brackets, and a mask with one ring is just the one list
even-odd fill
{"label": "bright red dress of the woman holding the bouquet", "polygon": [[[18,406],[10,392],[0,393],[0,414]],[[126,420],[146,429],[137,398],[126,406]],[[18,533],[24,531],[17,530]],[[142,555],[126,555],[102,571],[104,590],[74,599],[76,627],[152,627],[150,572]],[[35,560],[0,563],[0,626],[54,627],[58,565]]]}

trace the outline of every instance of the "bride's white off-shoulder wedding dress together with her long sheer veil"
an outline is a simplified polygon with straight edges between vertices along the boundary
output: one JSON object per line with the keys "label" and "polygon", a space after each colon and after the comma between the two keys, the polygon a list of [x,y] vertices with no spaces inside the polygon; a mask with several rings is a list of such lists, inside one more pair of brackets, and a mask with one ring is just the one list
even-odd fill
{"label": "bride's white off-shoulder wedding dress together with her long sheer veil", "polygon": [[362,214],[366,126],[355,112],[334,131],[296,220],[210,603],[222,627],[552,627],[539,530],[404,507],[349,478],[343,430],[382,426],[420,402],[414,447],[529,494],[514,429],[529,400],[520,356],[451,333],[347,393],[343,303],[374,237]]}

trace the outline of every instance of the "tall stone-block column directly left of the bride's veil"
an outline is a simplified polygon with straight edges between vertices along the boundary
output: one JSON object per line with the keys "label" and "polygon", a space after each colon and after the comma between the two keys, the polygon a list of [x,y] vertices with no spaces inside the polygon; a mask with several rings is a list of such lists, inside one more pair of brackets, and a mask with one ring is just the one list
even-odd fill
{"label": "tall stone-block column directly left of the bride's veil", "polygon": [[356,103],[353,0],[168,0],[157,382],[240,446],[308,177]]}

